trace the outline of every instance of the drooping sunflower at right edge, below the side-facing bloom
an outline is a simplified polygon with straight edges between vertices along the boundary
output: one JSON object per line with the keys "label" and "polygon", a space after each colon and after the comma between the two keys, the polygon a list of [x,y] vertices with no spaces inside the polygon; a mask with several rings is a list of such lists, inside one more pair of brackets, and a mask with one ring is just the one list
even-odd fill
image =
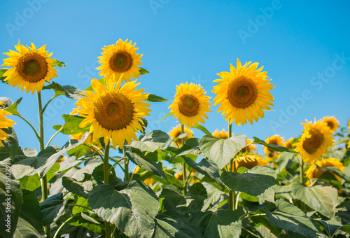
{"label": "drooping sunflower at right edge, below the side-facing bloom", "polygon": [[[342,172],[344,172],[344,165],[342,164],[342,162],[340,162],[339,160],[337,160],[335,158],[328,158],[328,159],[324,159],[324,160],[319,160],[316,162],[316,165],[318,165],[318,167],[337,167]],[[323,171],[321,169],[318,169],[316,167],[316,165],[311,165],[311,167],[309,167],[309,169],[307,169],[307,171],[305,172],[305,174],[307,175],[307,178],[317,179],[324,173],[333,174],[332,172],[327,172],[327,171]],[[333,175],[335,176],[335,178],[338,181],[342,181],[342,178],[340,178],[336,174],[333,174]]]}

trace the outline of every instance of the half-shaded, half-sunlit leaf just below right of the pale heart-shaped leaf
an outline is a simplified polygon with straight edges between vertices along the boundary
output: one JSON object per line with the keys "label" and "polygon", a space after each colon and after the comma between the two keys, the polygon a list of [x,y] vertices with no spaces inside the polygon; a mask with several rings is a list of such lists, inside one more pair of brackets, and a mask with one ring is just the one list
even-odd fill
{"label": "half-shaded, half-sunlit leaf just below right of the pale heart-shaped leaf", "polygon": [[274,202],[276,172],[269,167],[256,166],[244,174],[223,172],[221,174],[221,181],[232,190]]}

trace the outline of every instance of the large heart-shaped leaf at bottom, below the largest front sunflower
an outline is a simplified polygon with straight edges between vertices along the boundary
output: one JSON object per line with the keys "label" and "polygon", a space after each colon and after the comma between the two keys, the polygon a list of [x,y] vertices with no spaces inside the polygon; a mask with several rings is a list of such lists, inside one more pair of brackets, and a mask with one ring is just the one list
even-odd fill
{"label": "large heart-shaped leaf at bottom, below the largest front sunflower", "polygon": [[131,181],[120,191],[110,185],[99,185],[90,193],[88,202],[96,214],[128,237],[152,237],[160,202],[144,183]]}

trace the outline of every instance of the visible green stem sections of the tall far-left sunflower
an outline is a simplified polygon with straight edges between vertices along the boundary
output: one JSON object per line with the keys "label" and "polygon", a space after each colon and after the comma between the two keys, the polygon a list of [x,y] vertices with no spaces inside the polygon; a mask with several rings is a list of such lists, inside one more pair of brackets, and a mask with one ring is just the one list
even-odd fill
{"label": "visible green stem sections of the tall far-left sunflower", "polygon": [[[43,104],[41,103],[41,92],[38,92],[36,94],[38,96],[38,116],[39,116],[39,148],[40,151],[43,151],[45,148],[44,146],[44,134],[43,134]],[[41,178],[41,201],[45,201],[48,198],[48,178],[46,177],[46,174]],[[50,231],[50,225],[45,225],[44,231],[46,234],[46,237],[51,237],[51,231]]]}

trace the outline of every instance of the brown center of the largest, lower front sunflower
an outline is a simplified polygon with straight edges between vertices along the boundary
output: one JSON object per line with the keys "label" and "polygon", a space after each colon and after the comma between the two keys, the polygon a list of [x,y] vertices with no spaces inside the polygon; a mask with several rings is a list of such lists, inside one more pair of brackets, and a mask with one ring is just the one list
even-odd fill
{"label": "brown center of the largest, lower front sunflower", "polygon": [[106,130],[120,130],[132,122],[134,105],[123,94],[110,92],[94,103],[94,118]]}

